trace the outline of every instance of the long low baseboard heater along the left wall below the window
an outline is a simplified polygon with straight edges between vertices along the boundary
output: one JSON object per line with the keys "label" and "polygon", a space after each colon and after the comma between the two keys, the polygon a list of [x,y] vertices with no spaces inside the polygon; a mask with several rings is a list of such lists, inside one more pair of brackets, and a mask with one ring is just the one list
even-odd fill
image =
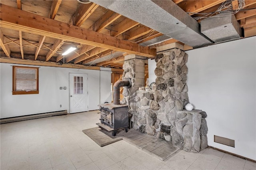
{"label": "long low baseboard heater along the left wall below the window", "polygon": [[51,117],[51,116],[56,116],[56,115],[66,115],[66,114],[68,114],[67,110],[49,112],[49,113],[39,113],[39,114],[27,115],[27,116],[10,117],[10,118],[0,119],[0,124],[17,122],[17,121],[25,121],[25,120],[30,120],[30,119],[38,119],[38,118],[43,118],[43,117]]}

